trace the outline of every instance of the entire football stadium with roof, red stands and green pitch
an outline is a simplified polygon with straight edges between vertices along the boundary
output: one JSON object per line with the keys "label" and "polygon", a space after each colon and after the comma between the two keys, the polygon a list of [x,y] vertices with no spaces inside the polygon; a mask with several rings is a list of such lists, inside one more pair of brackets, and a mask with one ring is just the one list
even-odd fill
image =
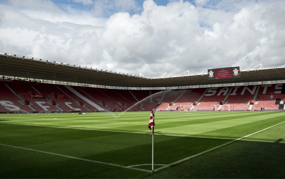
{"label": "entire football stadium with roof, red stands and green pitch", "polygon": [[0,52],[0,178],[284,178],[284,74],[145,77]]}

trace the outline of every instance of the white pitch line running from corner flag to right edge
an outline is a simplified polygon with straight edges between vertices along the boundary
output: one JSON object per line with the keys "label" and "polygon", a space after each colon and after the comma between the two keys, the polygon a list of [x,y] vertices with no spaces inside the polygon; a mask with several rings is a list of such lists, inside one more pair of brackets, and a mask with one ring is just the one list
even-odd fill
{"label": "white pitch line running from corner flag to right edge", "polygon": [[[284,121],[284,122],[285,122],[285,121]],[[282,124],[282,123],[284,123],[284,122],[280,122],[279,124]],[[184,162],[185,160],[191,159],[191,158],[193,158],[193,157],[197,157],[197,156],[199,156],[199,155],[202,155],[202,154],[207,153],[207,152],[209,152],[209,151],[212,151],[212,150],[215,150],[215,149],[217,149],[217,148],[223,147],[223,146],[228,145],[228,144],[230,144],[230,143],[233,143],[233,142],[235,142],[235,141],[244,139],[244,138],[249,137],[249,136],[251,136],[251,135],[254,135],[254,134],[256,134],[256,133],[265,131],[265,130],[267,130],[267,129],[271,128],[271,127],[277,126],[277,125],[279,125],[279,124],[275,124],[275,125],[273,125],[273,126],[270,126],[270,127],[265,128],[265,129],[262,129],[262,130],[260,130],[260,131],[257,131],[257,132],[255,132],[255,133],[246,135],[246,136],[241,137],[241,138],[239,138],[239,139],[235,139],[235,140],[233,140],[233,141],[229,141],[229,142],[224,143],[224,144],[222,144],[222,145],[219,145],[219,146],[217,146],[217,147],[213,147],[213,148],[211,148],[211,149],[209,149],[209,150],[206,150],[206,151],[197,153],[197,154],[195,154],[195,155],[192,155],[192,156],[190,156],[190,157],[187,157],[187,158],[178,160],[177,162],[173,162],[172,164],[168,164],[168,165],[166,165],[166,166],[163,166],[163,167],[161,167],[161,168],[158,168],[158,169],[154,170],[154,172],[157,172],[157,171],[162,170],[162,169],[164,169],[164,168],[173,166],[173,165],[178,164],[178,163],[180,163],[180,162]]]}

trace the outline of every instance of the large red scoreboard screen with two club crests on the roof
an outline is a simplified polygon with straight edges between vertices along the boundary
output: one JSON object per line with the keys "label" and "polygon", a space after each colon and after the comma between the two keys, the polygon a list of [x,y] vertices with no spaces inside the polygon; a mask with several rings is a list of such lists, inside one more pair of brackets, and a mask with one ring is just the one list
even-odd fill
{"label": "large red scoreboard screen with two club crests on the roof", "polygon": [[208,79],[240,77],[240,67],[208,69]]}

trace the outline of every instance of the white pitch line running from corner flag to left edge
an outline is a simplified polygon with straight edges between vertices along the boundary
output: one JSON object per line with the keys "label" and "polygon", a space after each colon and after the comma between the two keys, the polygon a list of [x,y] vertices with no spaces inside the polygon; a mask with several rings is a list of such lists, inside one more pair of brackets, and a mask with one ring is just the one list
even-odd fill
{"label": "white pitch line running from corner flag to left edge", "polygon": [[47,153],[47,154],[51,154],[51,155],[58,155],[58,156],[61,156],[61,157],[67,157],[67,158],[72,158],[72,159],[77,159],[77,160],[83,160],[83,161],[93,162],[93,163],[98,163],[98,164],[105,164],[105,165],[111,165],[111,166],[116,166],[116,167],[121,167],[121,168],[128,168],[128,169],[133,169],[133,170],[139,170],[139,171],[143,171],[143,172],[152,172],[151,170],[144,170],[144,169],[140,169],[140,168],[129,168],[129,167],[123,166],[123,165],[111,164],[111,163],[106,163],[106,162],[100,162],[100,161],[96,161],[96,160],[83,159],[83,158],[79,158],[79,157],[72,157],[72,156],[68,156],[68,155],[62,155],[62,154],[59,154],[59,153],[45,152],[45,151],[41,151],[41,150],[28,149],[28,148],[24,148],[24,147],[17,147],[17,146],[6,145],[6,144],[1,144],[1,143],[0,143],[0,145],[4,145],[6,147],[13,147],[13,148],[18,148],[18,149],[25,149],[25,150],[30,150],[30,151],[36,151],[36,152],[41,152],[41,153]]}

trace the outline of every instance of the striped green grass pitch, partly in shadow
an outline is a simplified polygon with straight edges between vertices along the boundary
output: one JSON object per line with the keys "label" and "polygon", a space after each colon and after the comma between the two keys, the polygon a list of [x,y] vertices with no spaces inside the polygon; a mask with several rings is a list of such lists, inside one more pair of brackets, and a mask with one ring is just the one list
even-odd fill
{"label": "striped green grass pitch, partly in shadow", "polygon": [[164,165],[279,125],[153,174],[150,112],[119,114],[1,114],[0,178],[285,178],[284,111],[155,112]]}

